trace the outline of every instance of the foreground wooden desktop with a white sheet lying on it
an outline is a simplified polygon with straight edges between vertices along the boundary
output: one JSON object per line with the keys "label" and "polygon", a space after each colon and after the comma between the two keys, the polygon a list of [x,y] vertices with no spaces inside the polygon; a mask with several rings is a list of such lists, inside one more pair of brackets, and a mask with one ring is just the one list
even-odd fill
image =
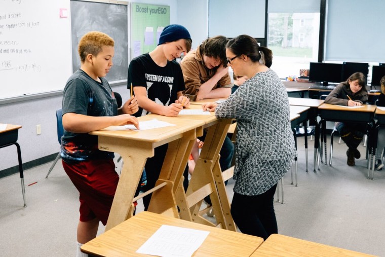
{"label": "foreground wooden desktop with a white sheet lying on it", "polygon": [[81,249],[96,256],[151,256],[136,253],[136,250],[162,225],[210,231],[193,256],[250,256],[263,242],[260,237],[142,211],[84,244]]}

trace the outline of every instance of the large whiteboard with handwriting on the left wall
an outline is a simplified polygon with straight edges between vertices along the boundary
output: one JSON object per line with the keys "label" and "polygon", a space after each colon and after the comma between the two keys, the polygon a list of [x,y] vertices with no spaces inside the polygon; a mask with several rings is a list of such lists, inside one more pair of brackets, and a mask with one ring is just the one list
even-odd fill
{"label": "large whiteboard with handwriting on the left wall", "polygon": [[64,89],[70,28],[68,0],[1,1],[0,99]]}

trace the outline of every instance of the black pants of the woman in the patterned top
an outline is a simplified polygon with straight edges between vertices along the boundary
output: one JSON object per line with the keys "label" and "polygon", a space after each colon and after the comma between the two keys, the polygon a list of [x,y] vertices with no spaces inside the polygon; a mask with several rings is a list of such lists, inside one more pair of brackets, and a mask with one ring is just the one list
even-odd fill
{"label": "black pants of the woman in the patterned top", "polygon": [[277,184],[257,196],[234,193],[231,213],[242,233],[262,237],[263,240],[271,234],[278,233],[273,205],[276,188]]}

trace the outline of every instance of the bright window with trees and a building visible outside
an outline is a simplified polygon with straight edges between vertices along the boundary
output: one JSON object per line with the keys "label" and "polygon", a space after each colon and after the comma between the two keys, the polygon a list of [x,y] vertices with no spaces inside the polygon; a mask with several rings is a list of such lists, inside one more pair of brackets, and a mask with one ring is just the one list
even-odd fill
{"label": "bright window with trees and a building visible outside", "polygon": [[292,2],[268,1],[267,47],[273,51],[272,69],[281,79],[299,77],[299,69],[318,61],[320,0]]}

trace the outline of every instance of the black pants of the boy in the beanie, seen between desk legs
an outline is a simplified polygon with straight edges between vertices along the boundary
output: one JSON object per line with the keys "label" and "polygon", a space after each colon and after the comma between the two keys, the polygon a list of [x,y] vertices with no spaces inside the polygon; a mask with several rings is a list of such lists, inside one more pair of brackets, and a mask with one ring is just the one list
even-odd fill
{"label": "black pants of the boy in the beanie, seen between desk legs", "polygon": [[[163,161],[165,160],[167,149],[168,149],[168,144],[158,146],[157,148],[154,149],[154,156],[147,159],[146,164],[144,165],[144,168],[146,170],[146,176],[147,176],[147,184],[142,187],[142,190],[144,192],[155,187],[155,183],[157,182],[159,175],[161,174]],[[183,176],[184,176],[183,187],[184,187],[184,191],[186,191],[188,187],[188,177],[187,177],[188,165],[186,165],[186,168],[184,169]],[[135,197],[139,195],[140,183],[141,181],[139,181],[139,185],[138,185],[138,188],[136,189]],[[144,210],[148,209],[151,196],[152,194],[149,194],[143,197]]]}

